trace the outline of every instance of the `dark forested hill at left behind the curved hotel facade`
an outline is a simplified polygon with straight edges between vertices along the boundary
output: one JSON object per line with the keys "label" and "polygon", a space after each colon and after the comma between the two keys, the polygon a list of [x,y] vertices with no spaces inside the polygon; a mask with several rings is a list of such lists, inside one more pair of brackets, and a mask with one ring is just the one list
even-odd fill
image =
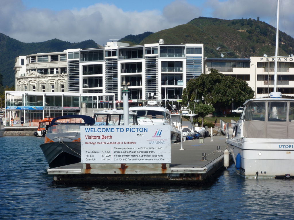
{"label": "dark forested hill at left behind the curved hotel facade", "polygon": [[14,85],[15,74],[13,67],[16,56],[56,51],[61,52],[66,49],[74,48],[96,47],[100,47],[100,45],[97,45],[97,43],[95,43],[93,40],[86,40],[80,43],[70,43],[67,41],[52,39],[39,43],[23,43],[19,40],[0,33],[0,74],[3,76],[2,84],[4,87],[11,87]]}

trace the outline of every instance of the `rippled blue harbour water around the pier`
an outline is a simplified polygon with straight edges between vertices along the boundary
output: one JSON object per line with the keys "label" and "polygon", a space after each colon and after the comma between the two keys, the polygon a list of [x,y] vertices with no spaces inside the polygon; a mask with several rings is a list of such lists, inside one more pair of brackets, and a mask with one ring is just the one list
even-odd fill
{"label": "rippled blue harbour water around the pier", "polygon": [[207,187],[55,186],[43,138],[0,138],[0,219],[294,219],[293,180],[245,180],[231,166]]}

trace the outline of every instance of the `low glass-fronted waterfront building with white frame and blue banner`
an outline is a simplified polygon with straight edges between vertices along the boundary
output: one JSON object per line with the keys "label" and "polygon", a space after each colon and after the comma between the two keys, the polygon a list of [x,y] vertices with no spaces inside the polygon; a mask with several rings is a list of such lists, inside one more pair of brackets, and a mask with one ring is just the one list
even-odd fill
{"label": "low glass-fronted waterfront building with white frame and blue banner", "polygon": [[63,115],[82,114],[91,109],[111,108],[114,94],[74,93],[74,92],[21,92],[5,91],[6,125],[34,122],[46,117],[55,118]]}

